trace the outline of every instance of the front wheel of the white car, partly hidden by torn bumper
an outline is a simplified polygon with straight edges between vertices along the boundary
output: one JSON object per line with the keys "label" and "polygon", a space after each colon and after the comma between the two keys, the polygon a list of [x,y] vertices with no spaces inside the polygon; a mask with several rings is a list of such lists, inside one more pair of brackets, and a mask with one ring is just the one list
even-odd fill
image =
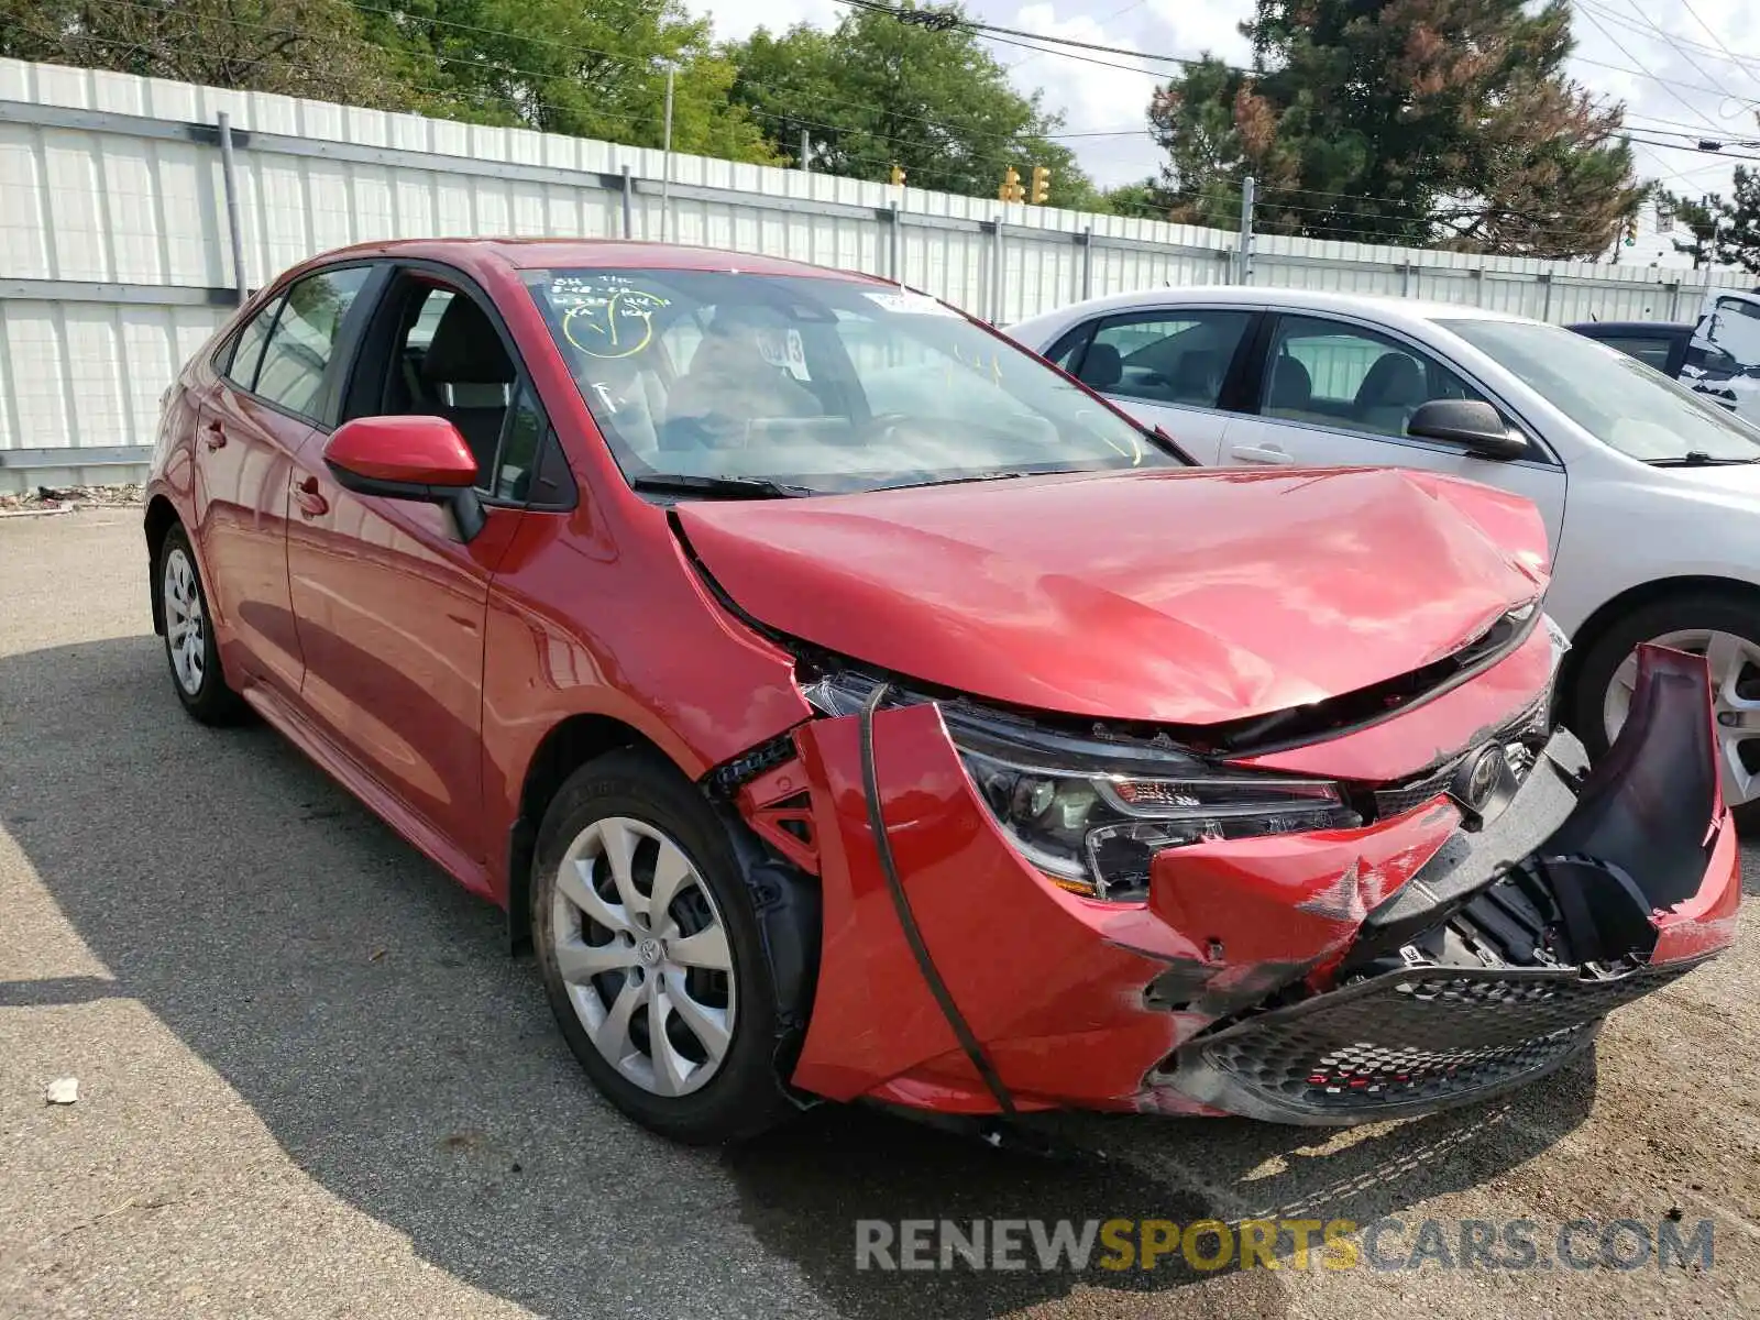
{"label": "front wheel of the white car, partly hidden by torn bumper", "polygon": [[1760,611],[1698,591],[1635,609],[1586,651],[1572,693],[1572,732],[1591,757],[1624,725],[1642,642],[1704,655],[1718,720],[1723,801],[1744,829],[1760,825]]}

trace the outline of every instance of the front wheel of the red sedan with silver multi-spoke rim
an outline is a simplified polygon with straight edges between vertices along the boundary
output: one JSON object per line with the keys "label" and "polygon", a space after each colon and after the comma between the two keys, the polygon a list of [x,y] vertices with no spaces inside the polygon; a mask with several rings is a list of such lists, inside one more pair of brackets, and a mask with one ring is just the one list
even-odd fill
{"label": "front wheel of the red sedan with silver multi-spoke rim", "polygon": [[646,752],[583,766],[539,829],[532,933],[563,1038],[625,1116],[688,1144],[792,1112],[736,855],[695,785]]}

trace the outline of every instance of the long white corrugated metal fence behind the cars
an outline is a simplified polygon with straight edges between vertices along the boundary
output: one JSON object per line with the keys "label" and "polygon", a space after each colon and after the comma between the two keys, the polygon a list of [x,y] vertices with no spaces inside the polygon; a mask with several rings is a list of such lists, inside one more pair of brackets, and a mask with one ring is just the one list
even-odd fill
{"label": "long white corrugated metal fence behind the cars", "polygon": [[160,394],[241,289],[347,243],[473,234],[792,257],[996,324],[1243,280],[1559,322],[1684,319],[1746,287],[1276,236],[1243,253],[1227,231],[0,60],[0,491],[139,479]]}

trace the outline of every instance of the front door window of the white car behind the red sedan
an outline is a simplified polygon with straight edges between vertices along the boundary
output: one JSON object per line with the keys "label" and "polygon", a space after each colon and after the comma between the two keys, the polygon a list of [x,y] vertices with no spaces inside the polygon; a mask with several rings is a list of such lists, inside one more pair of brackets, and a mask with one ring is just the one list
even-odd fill
{"label": "front door window of the white car behind the red sedan", "polygon": [[1265,417],[1403,436],[1433,400],[1489,403],[1459,375],[1387,334],[1283,317],[1260,392]]}

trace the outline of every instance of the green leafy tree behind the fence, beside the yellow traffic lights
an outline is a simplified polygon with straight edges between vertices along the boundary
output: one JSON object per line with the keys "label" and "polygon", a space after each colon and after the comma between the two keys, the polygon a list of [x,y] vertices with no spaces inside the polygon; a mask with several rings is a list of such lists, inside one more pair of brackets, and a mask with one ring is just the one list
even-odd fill
{"label": "green leafy tree behind the fence, beside the yellow traffic lights", "polygon": [[912,187],[994,197],[1008,165],[1023,187],[1042,165],[1051,206],[1095,201],[1074,153],[1051,139],[1063,118],[1044,109],[1040,93],[1016,92],[964,28],[854,9],[829,30],[759,28],[727,56],[739,70],[734,100],[790,162],[804,130],[811,167],[827,174],[884,181],[898,165]]}

